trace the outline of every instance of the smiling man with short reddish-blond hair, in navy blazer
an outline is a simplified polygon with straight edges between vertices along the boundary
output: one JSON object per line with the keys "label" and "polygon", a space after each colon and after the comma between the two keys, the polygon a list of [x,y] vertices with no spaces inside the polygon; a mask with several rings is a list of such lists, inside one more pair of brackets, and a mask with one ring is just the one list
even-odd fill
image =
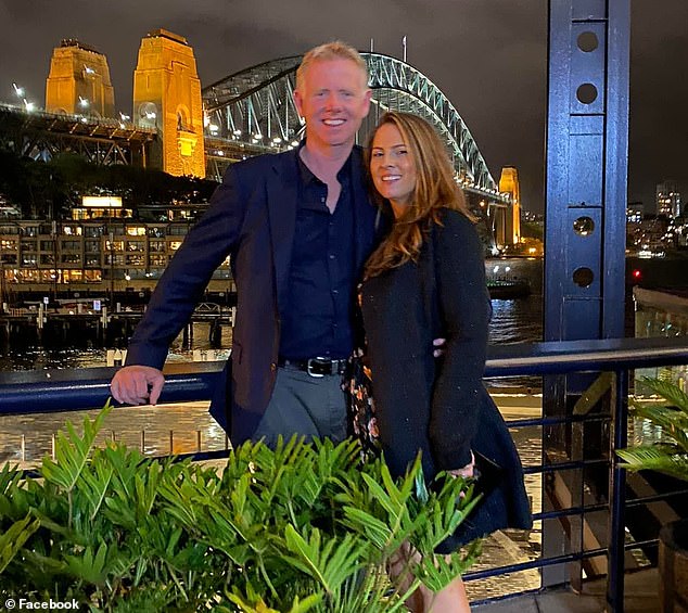
{"label": "smiling man with short reddish-blond hair, in navy blazer", "polygon": [[332,42],[306,53],[294,91],[305,141],[228,168],[131,337],[111,383],[118,401],[157,401],[169,344],[230,255],[237,321],[211,413],[234,445],[345,437],[340,380],[354,346],[354,292],[380,230],[354,146],[370,97],[356,50]]}

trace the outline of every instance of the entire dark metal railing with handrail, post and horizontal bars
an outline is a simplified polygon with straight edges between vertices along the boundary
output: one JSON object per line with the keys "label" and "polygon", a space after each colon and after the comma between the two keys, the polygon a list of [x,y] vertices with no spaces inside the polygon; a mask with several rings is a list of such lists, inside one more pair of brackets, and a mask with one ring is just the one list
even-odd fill
{"label": "entire dark metal railing with handrail, post and horizontal bars", "polygon": [[[568,551],[558,555],[540,557],[537,560],[506,566],[474,571],[464,575],[464,580],[477,580],[506,573],[532,569],[547,569],[562,564],[583,563],[586,560],[607,555],[607,601],[609,611],[623,611],[624,557],[628,549],[652,545],[652,539],[625,542],[626,508],[685,496],[688,490],[670,491],[651,497],[626,500],[625,471],[615,460],[615,449],[626,446],[627,436],[627,388],[629,371],[638,368],[665,367],[688,363],[688,339],[619,339],[604,341],[570,341],[561,343],[534,343],[490,347],[485,369],[488,379],[512,375],[561,375],[581,372],[611,372],[612,389],[610,410],[606,413],[547,414],[538,419],[509,421],[512,429],[532,426],[562,426],[610,423],[612,426],[609,456],[600,459],[566,458],[562,461],[543,462],[526,467],[526,474],[544,476],[565,471],[581,471],[591,467],[607,467],[609,471],[609,495],[596,503],[572,505],[569,508],[544,510],[535,513],[537,521],[570,521],[586,513],[608,514],[607,547]],[[166,384],[161,403],[207,400],[221,362],[193,362],[171,365],[165,370]],[[0,374],[0,414],[25,414],[30,412],[68,411],[102,407],[110,396],[109,382],[115,368],[87,370],[60,370],[43,372],[5,372]],[[215,456],[218,452],[211,452]],[[219,452],[221,454],[221,451]],[[208,454],[190,455],[195,458]]]}

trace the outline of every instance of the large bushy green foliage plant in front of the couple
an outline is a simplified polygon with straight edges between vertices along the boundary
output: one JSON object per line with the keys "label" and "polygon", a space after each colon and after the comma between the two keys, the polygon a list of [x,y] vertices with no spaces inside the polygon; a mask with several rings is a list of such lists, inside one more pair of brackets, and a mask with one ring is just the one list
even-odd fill
{"label": "large bushy green foliage plant in front of the couple", "polygon": [[[0,601],[76,598],[92,612],[383,613],[464,572],[434,548],[477,499],[463,480],[392,478],[354,440],[247,443],[224,471],[94,444],[107,405],[58,436],[36,477],[0,470]],[[124,410],[124,409],[123,409]],[[410,587],[385,569],[410,544]]]}

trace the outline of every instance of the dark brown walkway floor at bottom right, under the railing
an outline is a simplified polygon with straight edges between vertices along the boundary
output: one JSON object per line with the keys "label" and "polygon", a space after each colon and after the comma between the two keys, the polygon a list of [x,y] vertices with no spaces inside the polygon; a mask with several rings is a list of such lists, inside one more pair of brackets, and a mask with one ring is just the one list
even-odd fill
{"label": "dark brown walkway floor at bottom right, under the railing", "polygon": [[[660,613],[657,569],[627,574],[624,613]],[[475,613],[600,613],[606,604],[604,579],[588,582],[582,593],[566,589],[517,596],[473,606]]]}

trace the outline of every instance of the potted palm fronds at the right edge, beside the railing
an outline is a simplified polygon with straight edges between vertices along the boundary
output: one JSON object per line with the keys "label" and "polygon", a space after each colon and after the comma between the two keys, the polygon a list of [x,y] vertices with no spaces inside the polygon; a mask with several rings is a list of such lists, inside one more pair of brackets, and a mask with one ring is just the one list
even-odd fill
{"label": "potted palm fronds at the right edge, beside the railing", "polygon": [[633,414],[658,426],[661,440],[619,449],[616,454],[625,469],[653,470],[688,481],[688,395],[675,383],[662,379],[644,378],[641,383],[663,401],[632,400]]}

